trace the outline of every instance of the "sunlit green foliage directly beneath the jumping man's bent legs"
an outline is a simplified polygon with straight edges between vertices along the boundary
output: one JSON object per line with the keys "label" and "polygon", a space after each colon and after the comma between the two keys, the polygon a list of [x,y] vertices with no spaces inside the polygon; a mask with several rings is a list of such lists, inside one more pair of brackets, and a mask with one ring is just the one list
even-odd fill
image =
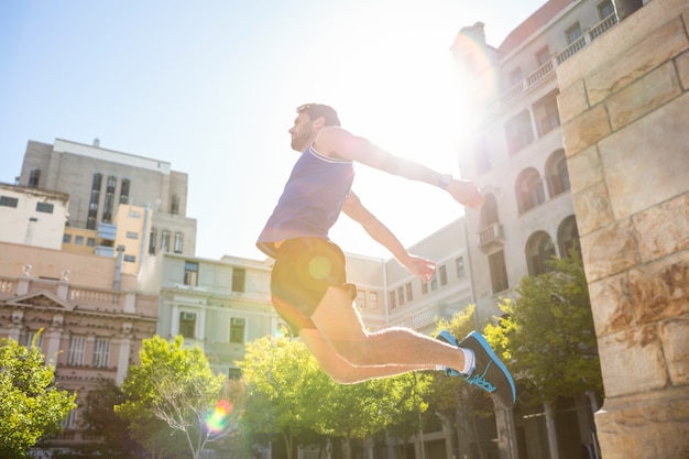
{"label": "sunlit green foliage directly beneath the jumping man's bent legs", "polygon": [[314,431],[363,439],[412,420],[416,433],[418,413],[427,408],[429,376],[337,384],[300,341],[287,338],[265,337],[247,345],[240,367],[248,387],[242,428],[265,437],[282,435],[288,456]]}

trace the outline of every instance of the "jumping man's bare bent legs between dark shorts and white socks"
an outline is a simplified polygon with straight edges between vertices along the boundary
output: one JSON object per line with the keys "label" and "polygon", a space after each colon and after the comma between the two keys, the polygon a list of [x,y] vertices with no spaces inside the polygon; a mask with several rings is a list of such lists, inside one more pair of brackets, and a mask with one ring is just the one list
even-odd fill
{"label": "jumping man's bare bent legs between dark shorts and white socks", "polygon": [[[368,332],[349,292],[339,287],[328,289],[311,315],[311,320],[318,335],[303,330],[299,336],[306,337],[306,346],[324,365],[325,371],[330,365],[335,372],[341,363],[332,363],[332,354],[338,354],[352,367],[392,365],[386,370],[375,370],[380,374],[368,378],[364,376],[365,373],[359,373],[361,379],[358,381],[412,370],[464,367],[464,356],[457,348],[411,329],[389,328]],[[328,345],[330,349],[322,350],[324,345]],[[357,381],[352,379],[348,382]]]}

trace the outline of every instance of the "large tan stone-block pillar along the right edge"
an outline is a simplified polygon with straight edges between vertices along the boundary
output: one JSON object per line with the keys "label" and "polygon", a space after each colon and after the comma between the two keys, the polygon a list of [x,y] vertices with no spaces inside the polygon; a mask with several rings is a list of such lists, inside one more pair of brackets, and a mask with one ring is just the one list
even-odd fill
{"label": "large tan stone-block pillar along the right edge", "polygon": [[653,0],[557,69],[605,459],[689,457],[687,30],[687,0]]}

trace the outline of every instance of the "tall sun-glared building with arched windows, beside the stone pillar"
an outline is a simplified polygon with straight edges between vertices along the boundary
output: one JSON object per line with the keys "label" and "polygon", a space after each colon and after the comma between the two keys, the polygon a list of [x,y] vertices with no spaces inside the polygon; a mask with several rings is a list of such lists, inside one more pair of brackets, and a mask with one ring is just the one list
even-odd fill
{"label": "tall sun-glared building with arched windows, beside the stone pillar", "polygon": [[[480,324],[502,314],[501,298],[515,298],[522,277],[547,272],[551,256],[578,247],[556,70],[616,23],[610,0],[549,0],[497,47],[485,42],[482,23],[463,28],[451,46],[477,120],[460,172],[485,196],[466,214]],[[553,416],[547,407],[499,409],[501,458],[579,458],[592,441],[597,403],[561,401]]]}

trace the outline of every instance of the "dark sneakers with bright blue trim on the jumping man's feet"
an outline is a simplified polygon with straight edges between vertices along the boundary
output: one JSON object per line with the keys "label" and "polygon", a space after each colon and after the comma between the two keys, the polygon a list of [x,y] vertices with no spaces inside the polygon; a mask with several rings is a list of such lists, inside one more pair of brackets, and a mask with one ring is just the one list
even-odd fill
{"label": "dark sneakers with bright blue trim on the jumping man's feet", "polygon": [[463,376],[469,384],[478,385],[485,392],[494,395],[497,402],[506,408],[511,408],[514,405],[516,390],[512,375],[479,332],[470,332],[459,343],[457,343],[457,338],[446,330],[440,331],[436,338],[451,346],[471,349],[474,353],[474,368],[471,369],[469,374],[460,373],[453,369],[446,369],[447,374]]}

